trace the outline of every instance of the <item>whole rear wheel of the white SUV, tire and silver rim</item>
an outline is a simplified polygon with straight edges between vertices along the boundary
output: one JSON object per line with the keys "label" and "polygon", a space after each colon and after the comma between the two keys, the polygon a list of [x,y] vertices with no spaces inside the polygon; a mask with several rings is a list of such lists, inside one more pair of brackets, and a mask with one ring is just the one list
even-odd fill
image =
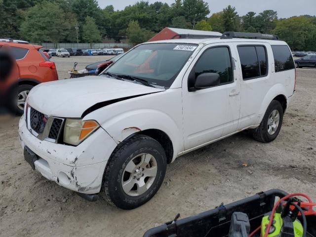
{"label": "whole rear wheel of the white SUV, tire and silver rim", "polygon": [[252,136],[260,142],[271,142],[276,139],[283,121],[283,108],[279,101],[273,100],[259,125],[252,130]]}

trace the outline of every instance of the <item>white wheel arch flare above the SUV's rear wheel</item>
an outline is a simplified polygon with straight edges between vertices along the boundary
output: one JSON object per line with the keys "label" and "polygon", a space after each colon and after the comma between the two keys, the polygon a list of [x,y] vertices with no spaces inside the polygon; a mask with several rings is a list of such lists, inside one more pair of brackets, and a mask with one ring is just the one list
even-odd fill
{"label": "white wheel arch flare above the SUV's rear wheel", "polygon": [[284,87],[284,85],[277,83],[274,86],[272,86],[270,88],[270,90],[267,92],[265,98],[263,99],[262,103],[261,103],[261,107],[259,110],[259,116],[258,116],[258,120],[257,120],[257,124],[259,124],[261,122],[261,120],[263,119],[268,106],[270,105],[271,101],[276,98],[276,96],[278,95],[283,95],[284,98],[287,100],[286,95],[286,89]]}

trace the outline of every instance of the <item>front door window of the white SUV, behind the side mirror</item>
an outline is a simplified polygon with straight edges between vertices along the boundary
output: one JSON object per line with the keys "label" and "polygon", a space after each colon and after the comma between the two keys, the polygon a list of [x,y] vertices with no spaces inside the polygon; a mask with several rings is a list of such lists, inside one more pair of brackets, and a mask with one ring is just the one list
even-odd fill
{"label": "front door window of the white SUV, behind the side mirror", "polygon": [[202,73],[218,73],[220,83],[233,81],[231,55],[228,47],[207,49],[195,66],[196,77]]}

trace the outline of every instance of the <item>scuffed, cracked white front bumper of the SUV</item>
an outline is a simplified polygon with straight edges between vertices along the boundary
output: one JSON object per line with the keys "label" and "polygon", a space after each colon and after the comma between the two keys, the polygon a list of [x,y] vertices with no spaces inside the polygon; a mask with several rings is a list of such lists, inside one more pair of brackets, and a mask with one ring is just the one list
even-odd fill
{"label": "scuffed, cracked white front bumper of the SUV", "polygon": [[22,148],[36,154],[34,167],[45,178],[82,194],[100,192],[107,161],[117,146],[105,130],[99,128],[74,147],[41,141],[27,129],[22,117],[19,135]]}

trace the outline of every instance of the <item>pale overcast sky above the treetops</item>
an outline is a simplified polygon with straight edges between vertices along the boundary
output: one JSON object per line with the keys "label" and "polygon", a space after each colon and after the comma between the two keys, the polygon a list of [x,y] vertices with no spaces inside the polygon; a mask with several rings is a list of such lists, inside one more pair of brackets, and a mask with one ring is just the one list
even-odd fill
{"label": "pale overcast sky above the treetops", "polygon": [[[122,10],[127,5],[132,5],[138,0],[98,0],[101,8],[113,5],[115,10]],[[147,0],[166,2],[169,5],[174,0]],[[204,0],[208,3],[212,13],[219,12],[228,5],[236,7],[238,15],[245,15],[249,11],[259,13],[263,10],[275,10],[279,18],[299,15],[316,15],[316,0]]]}

